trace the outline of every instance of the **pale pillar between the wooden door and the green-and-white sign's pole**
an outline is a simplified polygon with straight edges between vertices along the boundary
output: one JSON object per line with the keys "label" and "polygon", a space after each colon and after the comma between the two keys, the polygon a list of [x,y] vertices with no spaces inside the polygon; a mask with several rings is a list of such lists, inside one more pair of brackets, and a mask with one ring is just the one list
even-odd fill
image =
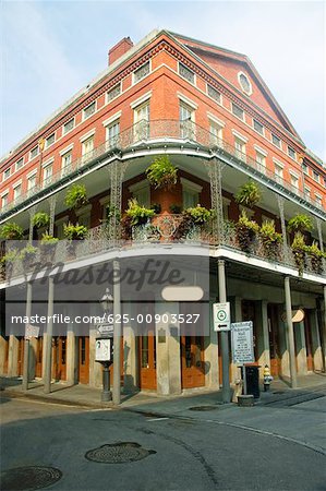
{"label": "pale pillar between the wooden door and the green-and-white sign's pole", "polygon": [[205,364],[208,370],[205,372],[205,386],[212,390],[219,390],[218,370],[218,336],[214,331],[213,304],[209,303],[209,337],[205,337]]}

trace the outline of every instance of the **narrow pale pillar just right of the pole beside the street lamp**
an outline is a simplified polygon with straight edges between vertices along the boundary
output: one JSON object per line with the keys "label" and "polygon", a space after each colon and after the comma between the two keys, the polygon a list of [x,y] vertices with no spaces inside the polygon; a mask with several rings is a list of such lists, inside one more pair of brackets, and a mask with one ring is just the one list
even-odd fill
{"label": "narrow pale pillar just right of the pole beside the street lamp", "polygon": [[[133,302],[123,303],[123,313],[135,316]],[[137,338],[131,322],[123,325],[123,392],[132,394],[138,390]]]}

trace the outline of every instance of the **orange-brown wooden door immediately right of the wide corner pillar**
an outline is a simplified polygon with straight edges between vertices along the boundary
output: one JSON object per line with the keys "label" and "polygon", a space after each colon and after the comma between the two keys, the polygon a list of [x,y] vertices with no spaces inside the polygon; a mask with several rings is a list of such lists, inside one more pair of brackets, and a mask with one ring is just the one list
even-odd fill
{"label": "orange-brown wooden door immediately right of the wide corner pillar", "polygon": [[181,337],[181,386],[182,388],[203,387],[204,372],[204,337]]}

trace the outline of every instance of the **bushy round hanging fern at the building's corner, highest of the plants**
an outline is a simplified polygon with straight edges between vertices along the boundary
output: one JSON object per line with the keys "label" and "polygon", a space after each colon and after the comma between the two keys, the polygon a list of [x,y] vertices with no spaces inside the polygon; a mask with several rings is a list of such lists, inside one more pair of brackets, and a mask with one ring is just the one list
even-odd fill
{"label": "bushy round hanging fern at the building's corner, highest of the plants", "polygon": [[146,176],[155,189],[170,189],[177,184],[178,169],[167,155],[161,155],[146,169]]}

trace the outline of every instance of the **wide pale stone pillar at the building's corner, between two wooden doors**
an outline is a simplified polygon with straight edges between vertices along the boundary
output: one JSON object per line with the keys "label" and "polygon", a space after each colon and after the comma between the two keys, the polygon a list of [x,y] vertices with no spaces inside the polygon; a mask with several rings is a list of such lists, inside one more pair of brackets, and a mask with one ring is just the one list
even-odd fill
{"label": "wide pale stone pillar at the building's corner, between two wooden doors", "polygon": [[[155,313],[179,315],[178,302],[156,302]],[[179,323],[156,323],[157,394],[181,394],[181,357]]]}

